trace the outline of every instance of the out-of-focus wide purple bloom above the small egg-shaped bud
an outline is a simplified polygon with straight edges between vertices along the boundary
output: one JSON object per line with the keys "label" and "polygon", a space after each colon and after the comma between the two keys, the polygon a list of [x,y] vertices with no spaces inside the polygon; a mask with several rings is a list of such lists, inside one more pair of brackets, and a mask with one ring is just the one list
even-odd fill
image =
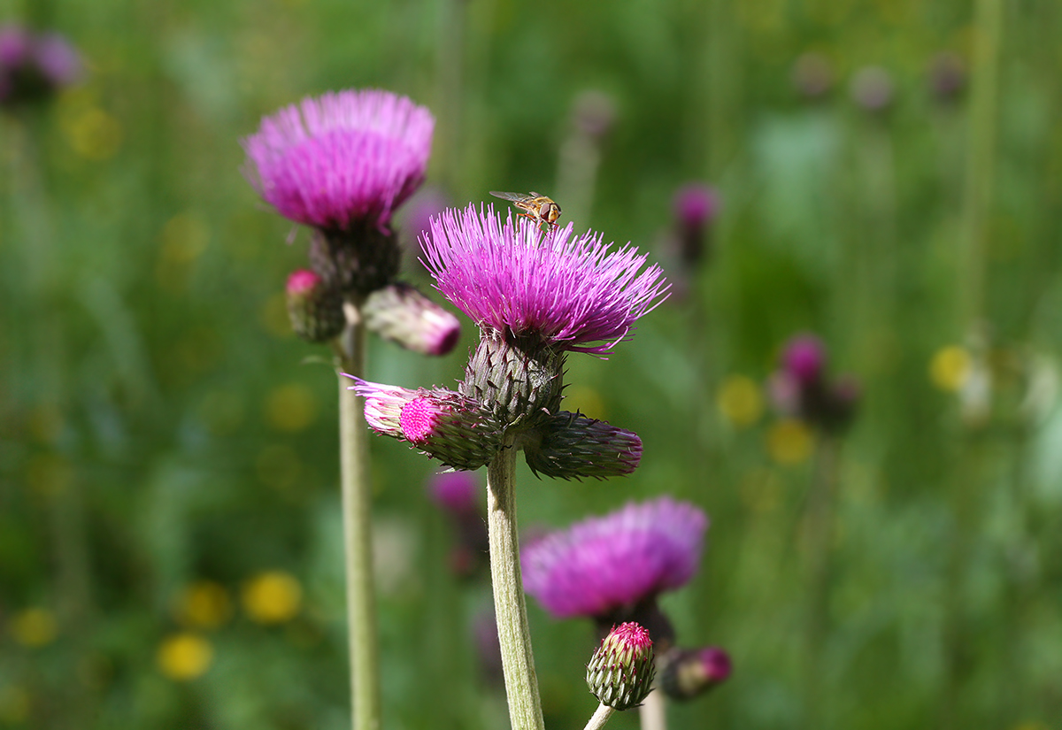
{"label": "out-of-focus wide purple bloom above the small egg-shaped bud", "polygon": [[686,502],[631,502],[524,550],[524,589],[556,618],[601,619],[685,585],[697,572],[708,519]]}

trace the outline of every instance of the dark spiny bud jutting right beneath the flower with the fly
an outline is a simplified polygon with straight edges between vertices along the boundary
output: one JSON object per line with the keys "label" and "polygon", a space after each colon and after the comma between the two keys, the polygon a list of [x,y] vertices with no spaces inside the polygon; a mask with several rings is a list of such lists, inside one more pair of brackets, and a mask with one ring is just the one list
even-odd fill
{"label": "dark spiny bud jutting right beneath the flower with the fly", "polygon": [[561,411],[542,428],[542,440],[524,447],[535,474],[553,479],[606,479],[630,474],[641,460],[638,435],[582,414]]}

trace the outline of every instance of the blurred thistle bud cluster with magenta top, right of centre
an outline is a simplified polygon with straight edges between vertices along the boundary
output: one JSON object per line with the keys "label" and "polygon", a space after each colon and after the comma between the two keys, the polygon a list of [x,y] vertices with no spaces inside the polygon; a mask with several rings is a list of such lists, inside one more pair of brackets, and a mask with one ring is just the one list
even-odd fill
{"label": "blurred thistle bud cluster with magenta top, right of centre", "polygon": [[811,334],[793,336],[783,349],[782,367],[771,376],[768,393],[783,415],[836,433],[851,425],[860,387],[847,375],[827,380],[826,362],[821,340]]}

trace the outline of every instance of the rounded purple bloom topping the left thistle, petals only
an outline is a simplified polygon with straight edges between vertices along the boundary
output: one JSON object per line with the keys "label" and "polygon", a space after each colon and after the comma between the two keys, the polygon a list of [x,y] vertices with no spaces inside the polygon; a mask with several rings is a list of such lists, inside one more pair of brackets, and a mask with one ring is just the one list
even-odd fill
{"label": "rounded purple bloom topping the left thistle, petals only", "polygon": [[376,89],[305,99],[262,120],[243,140],[245,174],[285,218],[325,230],[392,211],[424,180],[434,118],[406,97]]}

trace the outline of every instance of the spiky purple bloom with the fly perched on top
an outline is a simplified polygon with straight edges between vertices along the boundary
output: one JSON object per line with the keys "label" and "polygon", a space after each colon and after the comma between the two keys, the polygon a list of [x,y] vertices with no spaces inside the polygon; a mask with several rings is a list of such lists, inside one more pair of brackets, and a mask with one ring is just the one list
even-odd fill
{"label": "spiky purple bloom with the fly perched on top", "polygon": [[422,239],[439,291],[480,328],[534,337],[560,350],[606,354],[631,336],[668,285],[660,266],[572,224],[542,232],[487,206],[447,210]]}

